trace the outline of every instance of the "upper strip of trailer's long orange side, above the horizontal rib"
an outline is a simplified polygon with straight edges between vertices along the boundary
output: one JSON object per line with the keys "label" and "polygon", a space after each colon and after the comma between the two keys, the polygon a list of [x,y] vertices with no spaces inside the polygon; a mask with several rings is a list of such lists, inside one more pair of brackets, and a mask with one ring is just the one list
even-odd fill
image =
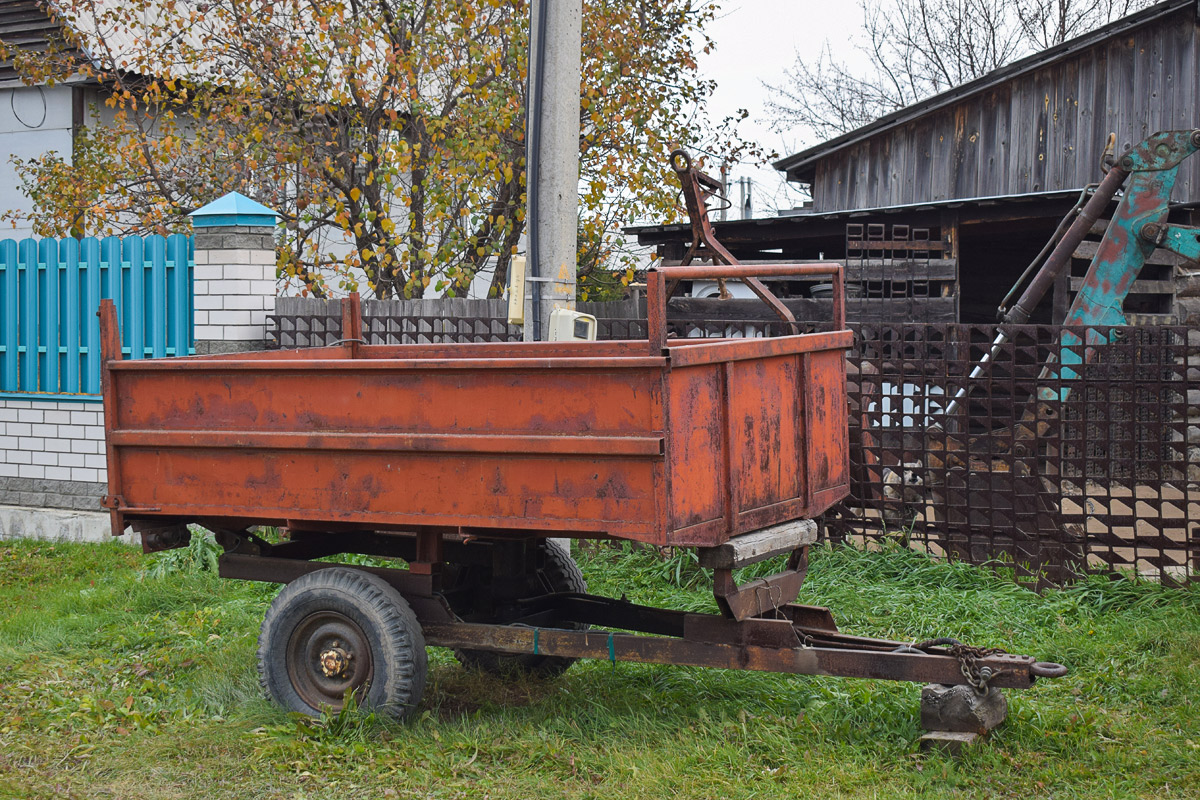
{"label": "upper strip of trailer's long orange side, above the horizontal rib", "polygon": [[[457,345],[467,349],[470,345]],[[661,435],[660,369],[528,368],[520,359],[188,359],[114,371],[116,425],[137,431]],[[128,362],[134,363],[134,362]],[[148,362],[151,363],[151,362]],[[661,363],[661,360],[658,361]],[[122,365],[124,367],[125,365]],[[248,366],[250,368],[244,368]],[[196,368],[199,367],[199,368]]]}

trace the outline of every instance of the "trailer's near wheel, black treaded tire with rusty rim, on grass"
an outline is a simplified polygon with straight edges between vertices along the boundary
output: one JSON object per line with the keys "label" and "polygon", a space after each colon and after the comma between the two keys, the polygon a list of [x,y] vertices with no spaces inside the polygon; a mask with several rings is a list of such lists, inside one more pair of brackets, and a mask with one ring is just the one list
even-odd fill
{"label": "trailer's near wheel, black treaded tire with rusty rim, on grass", "polygon": [[340,710],[349,688],[362,708],[404,720],[425,692],[425,636],[383,578],[329,567],[275,597],[258,636],[258,676],[268,697],[310,716]]}

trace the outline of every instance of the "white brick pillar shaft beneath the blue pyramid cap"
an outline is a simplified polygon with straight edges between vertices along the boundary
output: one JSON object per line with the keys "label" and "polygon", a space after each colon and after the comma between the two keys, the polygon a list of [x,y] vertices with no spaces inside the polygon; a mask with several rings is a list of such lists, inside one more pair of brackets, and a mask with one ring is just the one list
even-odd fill
{"label": "white brick pillar shaft beneath the blue pyramid cap", "polygon": [[275,253],[196,251],[196,338],[259,342],[275,311]]}

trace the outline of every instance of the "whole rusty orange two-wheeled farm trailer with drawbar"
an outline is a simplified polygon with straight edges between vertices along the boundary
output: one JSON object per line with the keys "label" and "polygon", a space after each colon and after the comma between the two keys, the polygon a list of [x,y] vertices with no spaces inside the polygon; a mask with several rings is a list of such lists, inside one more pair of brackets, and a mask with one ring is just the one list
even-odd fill
{"label": "whole rusty orange two-wheeled farm trailer with drawbar", "polygon": [[[668,287],[716,275],[828,276],[834,330],[668,339]],[[200,525],[223,576],[287,583],[259,668],[311,714],[347,692],[410,712],[426,644],[496,670],[602,657],[1027,686],[1049,667],[988,654],[964,669],[944,643],[845,637],[792,602],[812,518],[848,492],[841,295],[832,264],[666,267],[648,276],[648,341],[367,345],[354,299],[335,347],[137,361],[106,303],[113,533],[156,551]],[[547,537],[698,548],[722,614],[588,595]],[[397,563],[314,560],[340,553]],[[784,553],[780,573],[734,583]]]}

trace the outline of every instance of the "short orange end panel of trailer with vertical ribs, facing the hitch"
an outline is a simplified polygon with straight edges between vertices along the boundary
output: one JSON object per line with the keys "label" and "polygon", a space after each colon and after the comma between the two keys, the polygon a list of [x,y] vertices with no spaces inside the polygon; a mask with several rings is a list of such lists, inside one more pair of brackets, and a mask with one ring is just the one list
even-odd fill
{"label": "short orange end panel of trailer with vertical ribs, facing the hitch", "polygon": [[[696,365],[671,372],[672,543],[715,545],[846,495],[850,344],[848,332],[834,332],[671,348],[672,363]],[[822,368],[802,366],[814,356]]]}

